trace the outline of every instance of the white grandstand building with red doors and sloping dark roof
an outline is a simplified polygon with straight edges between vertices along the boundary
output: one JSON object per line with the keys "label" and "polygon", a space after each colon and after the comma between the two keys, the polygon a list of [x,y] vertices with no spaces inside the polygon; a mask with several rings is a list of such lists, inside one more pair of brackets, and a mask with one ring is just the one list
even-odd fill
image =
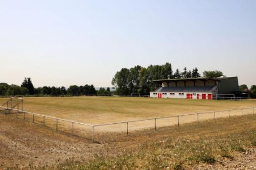
{"label": "white grandstand building with red doors and sloping dark roof", "polygon": [[150,92],[150,97],[155,98],[211,100],[218,95],[234,95],[239,91],[237,77],[163,79],[153,81],[162,84],[162,87]]}

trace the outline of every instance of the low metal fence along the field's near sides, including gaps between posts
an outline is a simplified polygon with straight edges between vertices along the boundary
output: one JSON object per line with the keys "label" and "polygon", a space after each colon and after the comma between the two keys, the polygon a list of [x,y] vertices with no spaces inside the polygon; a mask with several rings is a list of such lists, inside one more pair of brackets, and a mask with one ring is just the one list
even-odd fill
{"label": "low metal fence along the field's near sides, including gaps between posts", "polygon": [[[87,124],[80,123],[70,120],[65,120],[58,117],[47,116],[43,114],[36,114],[32,112],[21,111],[18,109],[8,108],[0,106],[0,111],[4,114],[14,115],[16,118],[21,118],[22,120],[27,120],[31,123],[40,124],[48,128],[55,129],[56,131],[67,132],[71,135],[83,137],[92,142],[100,140],[103,135],[107,135],[108,132],[122,132],[123,134],[130,134],[132,131],[137,131],[141,129],[153,129],[177,125],[184,123],[197,122],[202,120],[212,119],[214,121],[217,118],[228,117],[234,115],[245,115],[245,114],[254,114],[256,107],[247,107],[239,109],[228,109],[225,111],[212,111],[212,112],[203,112],[203,113],[193,113],[193,114],[184,114],[184,115],[175,115],[175,116],[164,116],[164,117],[154,117],[147,118],[142,120],[132,120],[132,121],[123,121],[115,123],[106,123],[106,124]],[[143,123],[142,123],[143,122]],[[97,132],[95,129],[97,128]],[[113,131],[114,129],[114,131]],[[97,139],[95,139],[97,138]]]}

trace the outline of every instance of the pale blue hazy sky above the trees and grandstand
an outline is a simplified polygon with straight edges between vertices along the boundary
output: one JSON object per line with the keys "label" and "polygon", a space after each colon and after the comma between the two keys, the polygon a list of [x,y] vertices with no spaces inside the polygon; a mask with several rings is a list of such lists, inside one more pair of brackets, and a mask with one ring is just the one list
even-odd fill
{"label": "pale blue hazy sky above the trees and grandstand", "polygon": [[256,84],[256,1],[0,1],[0,82],[111,86],[172,63]]}

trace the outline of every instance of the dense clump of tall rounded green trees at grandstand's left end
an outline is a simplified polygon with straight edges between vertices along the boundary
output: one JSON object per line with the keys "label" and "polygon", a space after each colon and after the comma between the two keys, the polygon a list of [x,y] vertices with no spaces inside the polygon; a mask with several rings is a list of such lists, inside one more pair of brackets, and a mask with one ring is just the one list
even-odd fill
{"label": "dense clump of tall rounded green trees at grandstand's left end", "polygon": [[149,65],[147,68],[137,65],[116,72],[111,83],[116,87],[115,93],[118,95],[131,95],[132,92],[148,95],[150,90],[161,86],[153,80],[169,78],[174,78],[170,63]]}

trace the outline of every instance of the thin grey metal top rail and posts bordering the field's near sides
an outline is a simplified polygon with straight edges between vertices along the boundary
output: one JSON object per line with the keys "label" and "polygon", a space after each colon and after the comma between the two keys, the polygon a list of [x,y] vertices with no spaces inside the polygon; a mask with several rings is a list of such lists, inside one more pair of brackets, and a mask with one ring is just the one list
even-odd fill
{"label": "thin grey metal top rail and posts bordering the field's near sides", "polygon": [[[18,109],[13,109],[13,108],[7,108],[7,107],[3,107],[3,106],[0,106],[0,108],[3,108],[4,111],[5,110],[8,110],[9,112],[10,111],[17,111],[16,113],[16,118],[20,118],[20,115],[22,115],[23,113],[23,117],[22,119],[23,120],[30,120],[32,123],[37,123],[37,124],[41,124],[43,126],[47,126],[46,123],[45,123],[45,120],[46,118],[50,118],[54,121],[52,121],[51,124],[52,126],[47,126],[49,128],[54,128],[56,131],[64,131],[64,132],[67,132],[67,123],[69,124],[69,128],[71,129],[71,132],[67,132],[67,133],[70,133],[74,136],[78,136],[78,137],[83,137],[83,138],[86,138],[86,139],[90,139],[92,140],[92,142],[94,142],[94,128],[96,127],[104,127],[104,126],[109,126],[109,125],[117,125],[117,124],[125,124],[126,126],[126,135],[129,134],[129,124],[133,123],[133,122],[142,122],[142,121],[150,121],[150,120],[153,120],[154,121],[154,124],[153,126],[151,126],[151,128],[154,128],[154,130],[157,130],[157,120],[165,120],[167,118],[175,118],[176,119],[176,122],[174,123],[175,125],[177,125],[178,127],[180,126],[180,119],[182,117],[186,117],[186,116],[196,116],[196,120],[194,121],[190,121],[190,122],[197,122],[199,124],[199,116],[203,115],[203,114],[213,114],[212,115],[212,119],[214,121],[217,120],[217,113],[221,113],[221,112],[227,112],[228,113],[228,118],[230,118],[230,112],[233,112],[233,111],[238,111],[239,112],[239,115],[243,115],[244,114],[244,111],[245,110],[250,110],[252,112],[250,112],[249,114],[254,114],[254,110],[256,107],[247,107],[247,108],[238,108],[238,109],[228,109],[228,110],[223,110],[223,111],[210,111],[210,112],[201,112],[201,113],[192,113],[192,114],[183,114],[183,115],[173,115],[173,116],[163,116],[163,117],[154,117],[154,118],[147,118],[147,119],[141,119],[141,120],[131,120],[131,121],[123,121],[123,122],[113,122],[113,123],[105,123],[105,124],[87,124],[87,123],[81,123],[81,122],[75,122],[75,121],[70,121],[70,120],[65,120],[65,119],[62,119],[62,118],[58,118],[58,117],[53,117],[53,116],[47,116],[47,115],[43,115],[43,114],[37,114],[37,113],[32,113],[32,112],[26,112],[26,111],[20,111]],[[3,111],[3,110],[2,110]],[[31,117],[27,117],[28,115],[30,115]],[[35,116],[39,116],[42,118],[41,122],[39,121],[38,123],[38,120],[37,122],[35,121]],[[209,117],[206,118],[206,119],[210,119]],[[62,130],[59,130],[58,129],[58,125],[61,125],[60,124],[60,121],[62,122],[65,122],[66,124],[63,125],[62,124]],[[77,133],[75,133],[75,125],[81,125],[81,127],[77,127],[76,130],[77,130]],[[71,126],[71,127],[70,127]],[[166,125],[168,126],[168,125]],[[170,126],[170,125],[169,125]],[[85,127],[87,129],[85,129]],[[88,129],[89,128],[89,129]],[[143,128],[143,127],[142,127]],[[87,130],[87,131],[86,131]],[[139,129],[138,129],[139,130]],[[86,132],[84,133],[85,135],[81,134],[81,132]],[[79,134],[80,133],[80,134]],[[91,136],[91,137],[90,137]]]}

